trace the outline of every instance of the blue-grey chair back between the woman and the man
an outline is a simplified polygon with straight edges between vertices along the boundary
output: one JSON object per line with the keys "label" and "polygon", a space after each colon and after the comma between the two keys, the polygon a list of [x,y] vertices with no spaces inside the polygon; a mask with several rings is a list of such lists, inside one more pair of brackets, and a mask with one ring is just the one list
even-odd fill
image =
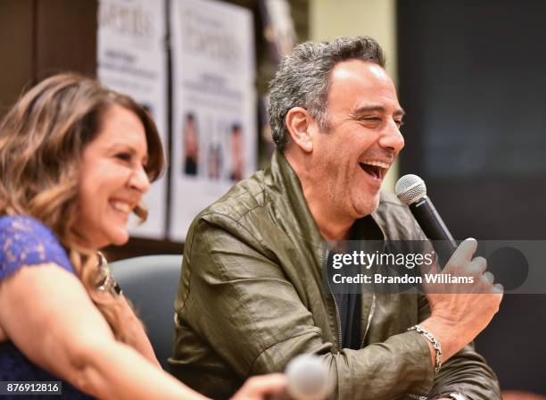
{"label": "blue-grey chair back between the woman and the man", "polygon": [[162,254],[128,258],[110,264],[114,279],[134,304],[161,367],[174,344],[174,298],[177,293],[182,255]]}

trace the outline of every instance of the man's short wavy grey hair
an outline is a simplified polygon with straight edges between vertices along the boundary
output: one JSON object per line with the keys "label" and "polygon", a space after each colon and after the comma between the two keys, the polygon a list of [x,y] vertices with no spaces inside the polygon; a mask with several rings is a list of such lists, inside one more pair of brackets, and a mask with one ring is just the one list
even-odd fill
{"label": "man's short wavy grey hair", "polygon": [[383,49],[371,37],[338,37],[333,42],[305,42],[285,56],[269,84],[271,134],[282,152],[289,137],[286,113],[302,107],[327,130],[327,97],[330,72],[336,63],[348,60],[376,63],[385,68]]}

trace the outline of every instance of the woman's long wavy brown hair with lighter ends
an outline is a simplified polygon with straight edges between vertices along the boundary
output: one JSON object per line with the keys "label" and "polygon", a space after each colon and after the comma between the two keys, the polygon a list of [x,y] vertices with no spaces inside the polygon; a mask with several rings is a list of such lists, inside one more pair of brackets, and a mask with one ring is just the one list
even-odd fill
{"label": "woman's long wavy brown hair with lighter ends", "polygon": [[[144,125],[146,172],[151,181],[158,179],[165,159],[161,139],[145,109],[95,79],[59,74],[21,96],[0,123],[0,215],[26,214],[53,229],[116,337],[131,344],[131,329],[119,318],[120,302],[96,290],[101,277],[95,249],[79,246],[76,227],[83,150],[97,137],[103,116],[113,105],[134,112]],[[142,205],[135,213],[145,220]]]}

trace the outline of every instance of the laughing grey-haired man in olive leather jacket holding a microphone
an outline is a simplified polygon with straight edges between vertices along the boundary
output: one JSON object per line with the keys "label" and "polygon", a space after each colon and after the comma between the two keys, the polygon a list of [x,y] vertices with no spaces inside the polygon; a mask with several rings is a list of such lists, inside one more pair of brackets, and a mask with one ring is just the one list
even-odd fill
{"label": "laughing grey-haired man in olive leather jacket holding a microphone", "polygon": [[467,345],[501,302],[484,259],[472,260],[476,241],[446,268],[473,274],[479,295],[324,290],[326,240],[422,238],[407,208],[380,192],[404,145],[384,66],[369,37],[305,43],[281,64],[270,168],[199,214],[187,235],[170,365],[190,387],[225,398],[246,377],[313,353],[330,368],[335,398],[501,398]]}

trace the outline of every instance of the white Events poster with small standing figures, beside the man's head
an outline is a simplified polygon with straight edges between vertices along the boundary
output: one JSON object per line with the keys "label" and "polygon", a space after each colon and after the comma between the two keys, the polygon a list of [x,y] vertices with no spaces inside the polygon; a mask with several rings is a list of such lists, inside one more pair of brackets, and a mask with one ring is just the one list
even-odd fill
{"label": "white Events poster with small standing figures, beside the man's head", "polygon": [[173,121],[170,238],[256,170],[252,12],[171,0]]}

